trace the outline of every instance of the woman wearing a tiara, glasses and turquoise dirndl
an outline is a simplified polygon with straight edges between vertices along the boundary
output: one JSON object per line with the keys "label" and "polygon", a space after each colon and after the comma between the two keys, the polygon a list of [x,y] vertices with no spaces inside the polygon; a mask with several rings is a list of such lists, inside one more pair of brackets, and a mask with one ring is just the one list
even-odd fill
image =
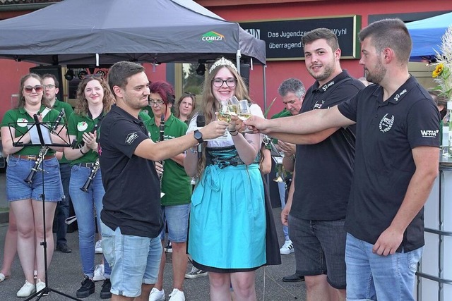
{"label": "woman wearing a tiara, glasses and turquoise dirndl", "polygon": [[[220,102],[231,97],[251,102],[234,63],[213,63],[203,90],[200,113],[206,125],[217,120]],[[256,104],[254,115],[263,116]],[[189,131],[196,128],[197,115]],[[255,271],[266,264],[266,211],[258,152],[261,135],[238,132],[232,116],[225,137],[186,152],[184,167],[198,182],[191,197],[188,251],[197,269],[208,271],[210,300],[256,300]],[[202,137],[201,137],[202,139]]]}

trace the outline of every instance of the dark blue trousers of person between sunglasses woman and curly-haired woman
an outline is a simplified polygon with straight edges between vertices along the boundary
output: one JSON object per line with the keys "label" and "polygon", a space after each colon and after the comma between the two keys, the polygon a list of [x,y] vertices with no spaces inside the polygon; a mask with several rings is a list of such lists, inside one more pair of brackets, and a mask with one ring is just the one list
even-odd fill
{"label": "dark blue trousers of person between sunglasses woman and curly-haired woman", "polygon": [[55,219],[57,221],[57,245],[66,245],[66,232],[68,225],[64,222],[69,217],[69,204],[71,196],[69,195],[69,179],[71,178],[71,165],[69,163],[59,164],[59,173],[61,174],[61,184],[63,184],[64,198],[57,204]]}

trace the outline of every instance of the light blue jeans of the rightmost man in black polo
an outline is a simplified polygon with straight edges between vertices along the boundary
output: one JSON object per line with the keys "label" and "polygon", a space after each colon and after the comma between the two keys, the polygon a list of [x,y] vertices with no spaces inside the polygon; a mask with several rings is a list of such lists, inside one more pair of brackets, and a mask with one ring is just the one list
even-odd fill
{"label": "light blue jeans of the rightmost man in black polo", "polygon": [[415,300],[415,273],[424,247],[388,256],[374,254],[372,247],[347,233],[347,300]]}

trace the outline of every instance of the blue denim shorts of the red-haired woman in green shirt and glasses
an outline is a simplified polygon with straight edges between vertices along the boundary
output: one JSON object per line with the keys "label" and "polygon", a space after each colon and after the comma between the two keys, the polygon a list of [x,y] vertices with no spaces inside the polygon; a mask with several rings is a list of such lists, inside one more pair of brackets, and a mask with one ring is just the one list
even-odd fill
{"label": "blue denim shorts of the red-haired woman in green shirt and glasses", "polygon": [[160,239],[165,239],[165,228],[168,228],[168,240],[171,242],[186,242],[189,230],[190,204],[162,206],[164,227]]}

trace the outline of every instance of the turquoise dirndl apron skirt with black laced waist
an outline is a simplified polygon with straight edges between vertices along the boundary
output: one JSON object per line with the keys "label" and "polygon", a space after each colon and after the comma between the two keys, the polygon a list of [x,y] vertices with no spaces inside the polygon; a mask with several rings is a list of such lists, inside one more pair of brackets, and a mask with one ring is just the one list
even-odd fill
{"label": "turquoise dirndl apron skirt with black laced waist", "polygon": [[191,197],[188,251],[207,271],[251,271],[266,264],[263,182],[234,145],[207,147],[207,164]]}

